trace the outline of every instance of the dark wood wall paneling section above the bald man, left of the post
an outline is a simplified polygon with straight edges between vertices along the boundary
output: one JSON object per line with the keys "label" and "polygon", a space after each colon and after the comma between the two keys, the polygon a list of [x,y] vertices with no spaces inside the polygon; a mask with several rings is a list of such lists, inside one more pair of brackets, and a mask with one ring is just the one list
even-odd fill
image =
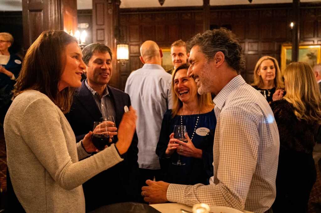
{"label": "dark wood wall paneling section above the bald man, left of the post", "polygon": [[125,89],[130,72],[143,66],[139,56],[144,41],[153,40],[163,49],[170,48],[178,39],[187,41],[196,33],[203,32],[202,14],[202,8],[168,12],[121,11],[119,23],[129,44],[129,61],[120,69],[120,89]]}

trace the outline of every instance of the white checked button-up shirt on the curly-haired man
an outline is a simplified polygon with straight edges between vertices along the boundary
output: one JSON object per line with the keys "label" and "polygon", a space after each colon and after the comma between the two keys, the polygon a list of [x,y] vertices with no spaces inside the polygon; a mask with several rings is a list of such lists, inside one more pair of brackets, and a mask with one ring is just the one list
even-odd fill
{"label": "white checked button-up shirt on the curly-haired man", "polygon": [[214,176],[210,185],[170,184],[167,199],[263,213],[275,199],[279,133],[267,101],[239,75],[214,98]]}

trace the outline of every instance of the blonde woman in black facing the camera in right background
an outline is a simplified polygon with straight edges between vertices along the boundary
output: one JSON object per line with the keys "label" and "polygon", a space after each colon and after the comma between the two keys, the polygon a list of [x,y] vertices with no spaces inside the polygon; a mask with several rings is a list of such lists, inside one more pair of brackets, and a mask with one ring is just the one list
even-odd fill
{"label": "blonde woman in black facing the camera in right background", "polygon": [[265,91],[267,102],[282,99],[284,82],[278,61],[271,56],[260,58],[254,69],[254,83],[257,90]]}

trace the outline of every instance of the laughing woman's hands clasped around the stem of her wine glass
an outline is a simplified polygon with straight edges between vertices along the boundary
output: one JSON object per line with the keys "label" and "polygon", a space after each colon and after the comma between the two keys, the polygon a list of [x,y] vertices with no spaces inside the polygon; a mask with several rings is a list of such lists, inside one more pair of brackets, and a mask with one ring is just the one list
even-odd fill
{"label": "laughing woman's hands clasped around the stem of her wine glass", "polygon": [[193,142],[188,137],[186,133],[187,143],[184,143],[178,139],[174,138],[174,133],[169,135],[169,143],[167,145],[167,149],[165,151],[166,157],[170,157],[175,151],[179,155],[183,155],[186,157],[194,157],[194,158],[201,158],[202,157],[202,150],[195,148]]}

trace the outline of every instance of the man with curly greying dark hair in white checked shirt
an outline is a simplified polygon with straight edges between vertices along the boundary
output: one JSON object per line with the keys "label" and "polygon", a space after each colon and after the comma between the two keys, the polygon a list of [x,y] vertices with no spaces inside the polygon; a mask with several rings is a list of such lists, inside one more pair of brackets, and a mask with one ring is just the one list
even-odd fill
{"label": "man with curly greying dark hair in white checked shirt", "polygon": [[267,212],[275,200],[280,146],[273,112],[263,95],[239,75],[245,61],[229,30],[208,30],[187,45],[192,47],[188,74],[197,82],[198,93],[216,94],[214,176],[209,185],[147,180],[149,186],[142,188],[144,200]]}

